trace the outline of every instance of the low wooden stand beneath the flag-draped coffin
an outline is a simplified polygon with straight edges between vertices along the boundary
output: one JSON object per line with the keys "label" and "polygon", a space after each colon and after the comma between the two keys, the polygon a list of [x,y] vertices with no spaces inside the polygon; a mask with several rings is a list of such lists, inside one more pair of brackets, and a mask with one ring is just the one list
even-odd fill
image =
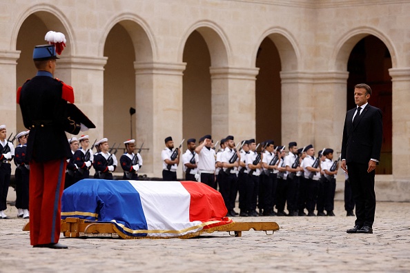
{"label": "low wooden stand beneath the flag-draped coffin", "polygon": [[[273,232],[279,230],[279,225],[275,222],[234,222],[229,228],[217,230],[219,232],[228,232],[229,235],[241,237],[243,231],[264,231],[266,235],[273,235]],[[30,231],[30,223],[26,223],[23,231]],[[122,239],[152,239],[153,237],[135,237],[127,236],[121,232],[117,232],[117,228],[113,223],[98,223],[97,221],[88,221],[79,218],[66,218],[61,220],[61,232],[66,237],[101,237],[110,236],[113,238]],[[175,237],[178,238],[178,237]]]}

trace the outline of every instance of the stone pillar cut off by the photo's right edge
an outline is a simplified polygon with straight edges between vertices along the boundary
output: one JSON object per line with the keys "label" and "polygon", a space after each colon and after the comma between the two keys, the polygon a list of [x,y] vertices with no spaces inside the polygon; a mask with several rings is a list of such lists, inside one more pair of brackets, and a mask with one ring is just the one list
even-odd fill
{"label": "stone pillar cut off by the photo's right edge", "polygon": [[390,68],[393,83],[393,180],[398,183],[395,201],[410,201],[410,68]]}

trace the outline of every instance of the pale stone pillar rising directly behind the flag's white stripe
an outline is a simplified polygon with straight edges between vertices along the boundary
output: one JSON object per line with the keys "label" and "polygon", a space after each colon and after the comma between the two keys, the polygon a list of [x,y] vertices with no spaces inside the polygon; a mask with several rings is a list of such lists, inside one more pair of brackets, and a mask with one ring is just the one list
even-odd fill
{"label": "pale stone pillar rising directly behind the flag's white stripe", "polygon": [[[161,151],[172,136],[182,141],[182,76],[186,63],[135,63],[137,142],[144,142],[141,173],[162,178]],[[182,178],[179,163],[178,178]]]}

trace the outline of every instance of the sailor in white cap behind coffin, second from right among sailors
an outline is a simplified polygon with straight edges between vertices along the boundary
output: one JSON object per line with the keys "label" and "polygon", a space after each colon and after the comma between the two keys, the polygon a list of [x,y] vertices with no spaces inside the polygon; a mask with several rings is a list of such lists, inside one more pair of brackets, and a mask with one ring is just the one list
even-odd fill
{"label": "sailor in white cap behind coffin, second from right among sailors", "polygon": [[113,172],[117,168],[118,161],[115,154],[108,152],[110,150],[108,139],[104,137],[104,139],[97,141],[95,145],[98,146],[101,152],[94,156],[92,167],[95,168],[95,172],[98,172],[99,179],[113,180]]}

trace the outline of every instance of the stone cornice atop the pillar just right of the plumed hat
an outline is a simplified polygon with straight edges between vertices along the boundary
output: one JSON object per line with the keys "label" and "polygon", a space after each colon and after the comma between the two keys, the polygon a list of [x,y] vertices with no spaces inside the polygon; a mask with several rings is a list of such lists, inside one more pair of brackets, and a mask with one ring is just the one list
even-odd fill
{"label": "stone cornice atop the pillar just right of the plumed hat", "polygon": [[71,56],[61,57],[57,61],[57,68],[71,68],[84,70],[104,70],[108,57]]}

